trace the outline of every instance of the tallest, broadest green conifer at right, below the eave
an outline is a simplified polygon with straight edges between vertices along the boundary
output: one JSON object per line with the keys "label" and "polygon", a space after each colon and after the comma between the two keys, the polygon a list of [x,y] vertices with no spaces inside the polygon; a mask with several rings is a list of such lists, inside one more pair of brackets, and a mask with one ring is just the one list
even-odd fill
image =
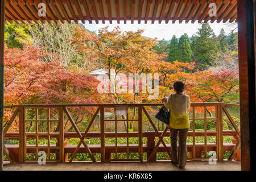
{"label": "tallest, broadest green conifer at right, below the eave", "polygon": [[208,23],[202,23],[196,35],[192,36],[192,57],[196,62],[196,68],[204,70],[216,65],[218,60],[218,40]]}

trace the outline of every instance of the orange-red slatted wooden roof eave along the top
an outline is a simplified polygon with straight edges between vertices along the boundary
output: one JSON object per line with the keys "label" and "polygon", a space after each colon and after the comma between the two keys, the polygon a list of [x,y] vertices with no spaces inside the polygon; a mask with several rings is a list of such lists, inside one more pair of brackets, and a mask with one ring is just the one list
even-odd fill
{"label": "orange-red slatted wooden roof eave along the top", "polygon": [[[38,15],[38,4],[46,5],[46,16]],[[209,3],[216,3],[217,16],[209,16]],[[131,21],[172,23],[233,22],[237,19],[236,0],[6,0],[6,20],[16,23],[96,23]]]}

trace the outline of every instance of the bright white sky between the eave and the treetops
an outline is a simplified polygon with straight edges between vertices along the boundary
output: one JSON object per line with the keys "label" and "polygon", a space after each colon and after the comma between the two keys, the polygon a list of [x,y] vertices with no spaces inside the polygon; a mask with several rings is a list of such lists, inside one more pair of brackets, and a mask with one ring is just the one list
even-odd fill
{"label": "bright white sky between the eave and the treetops", "polygon": [[[226,34],[229,34],[231,30],[236,28],[237,24],[235,23],[209,23],[210,27],[213,29],[214,33],[216,35],[220,34],[221,28],[224,28]],[[100,28],[109,26],[109,30],[112,30],[114,27],[119,26],[121,30],[123,31],[137,31],[138,29],[144,30],[143,36],[146,36],[148,38],[158,38],[158,40],[171,40],[173,35],[176,35],[177,38],[180,38],[181,35],[184,33],[187,33],[189,37],[191,37],[193,34],[196,34],[198,28],[201,27],[200,23],[172,23],[171,21],[169,23],[158,23],[158,21],[155,21],[154,24],[151,24],[151,21],[148,20],[147,24],[144,24],[144,21],[141,21],[141,24],[138,24],[138,21],[134,21],[134,24],[131,24],[129,20],[127,20],[127,23],[124,24],[123,21],[120,21],[120,24],[117,24],[116,20],[112,21],[112,24],[109,24],[109,21],[105,21],[105,24],[102,24],[101,21],[99,21],[98,24],[96,24],[94,21],[92,24],[89,24],[88,21],[84,24],[85,28],[87,28],[90,31],[98,33],[98,30]],[[236,29],[237,31],[237,29]]]}

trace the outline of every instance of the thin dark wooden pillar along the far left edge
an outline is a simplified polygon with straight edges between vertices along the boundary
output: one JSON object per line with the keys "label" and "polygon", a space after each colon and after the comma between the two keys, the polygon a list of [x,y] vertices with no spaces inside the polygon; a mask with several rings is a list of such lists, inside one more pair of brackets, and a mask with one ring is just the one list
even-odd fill
{"label": "thin dark wooden pillar along the far left edge", "polygon": [[5,0],[1,0],[0,19],[0,171],[3,170],[3,53],[5,51]]}

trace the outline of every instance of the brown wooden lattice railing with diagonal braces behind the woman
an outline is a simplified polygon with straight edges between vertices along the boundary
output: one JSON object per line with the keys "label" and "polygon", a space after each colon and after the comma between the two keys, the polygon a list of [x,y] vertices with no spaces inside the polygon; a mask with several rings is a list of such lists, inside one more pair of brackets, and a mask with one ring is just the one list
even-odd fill
{"label": "brown wooden lattice railing with diagonal braces behind the woman", "polygon": [[[100,153],[101,162],[109,161],[156,161],[156,152],[167,152],[170,154],[170,143],[164,142],[164,137],[170,137],[170,131],[168,127],[164,126],[163,131],[158,131],[154,120],[154,112],[148,111],[149,107],[157,111],[159,106],[163,104],[39,104],[39,105],[18,105],[7,106],[5,109],[13,110],[13,115],[9,121],[5,124],[4,137],[5,138],[18,138],[19,145],[6,144],[4,148],[5,155],[11,163],[13,162],[38,162],[38,152],[45,151],[47,154],[47,162],[72,162],[77,153],[89,154],[92,162],[96,162],[94,158],[95,153]],[[106,119],[105,111],[108,109],[117,109],[117,107],[123,106],[123,108],[134,109],[134,113],[131,116],[129,112],[118,118],[114,115],[114,119]],[[224,151],[232,151],[229,156],[229,160],[232,160],[236,155],[238,148],[240,148],[240,130],[236,123],[233,121],[231,115],[225,106],[239,106],[237,104],[225,104],[225,103],[192,103],[192,117],[189,119],[192,121],[191,130],[188,131],[188,137],[192,137],[192,143],[187,143],[187,151],[189,152],[189,158],[191,160],[208,159],[208,151],[216,151],[216,159],[224,159]],[[80,131],[77,126],[77,122],[74,121],[73,116],[69,113],[69,110],[74,107],[90,108],[94,110],[94,114],[90,118],[88,125],[84,127],[83,131]],[[93,109],[94,108],[94,109]],[[28,111],[33,111],[34,115],[29,114]],[[196,111],[203,112],[204,117],[196,118]],[[212,110],[211,117],[208,117],[207,113]],[[224,112],[223,112],[224,111]],[[55,113],[55,114],[53,114]],[[229,121],[234,127],[232,130],[223,130],[222,128],[222,113],[225,113]],[[100,116],[99,116],[100,114]],[[135,114],[135,115],[134,115]],[[29,117],[28,117],[29,116]],[[54,117],[53,117],[54,116]],[[100,119],[99,130],[89,131],[96,122],[96,118]],[[17,119],[18,118],[18,119]],[[7,132],[15,119],[19,123],[18,133]],[[197,131],[195,129],[196,121],[204,121],[204,130]],[[216,127],[215,130],[207,130],[208,121],[214,121]],[[65,132],[64,125],[70,122],[75,132]],[[114,122],[114,132],[108,132],[105,129],[105,124],[108,122]],[[118,131],[117,123],[124,122],[125,131]],[[129,123],[137,122],[138,131],[130,131]],[[52,124],[57,125],[58,131],[52,130]],[[43,126],[43,127],[39,127]],[[34,128],[33,128],[34,127]],[[147,127],[152,131],[147,131]],[[42,130],[43,128],[43,130]],[[31,130],[32,129],[32,130]],[[209,143],[207,137],[215,137],[214,143]],[[237,143],[224,143],[223,136],[233,136],[237,139]],[[126,138],[126,144],[118,144],[118,138]],[[204,143],[196,143],[196,137],[203,137]],[[46,139],[47,144],[40,145],[40,139]],[[52,139],[56,139],[56,143],[51,143]],[[79,138],[80,142],[77,145],[67,144],[67,138]],[[85,138],[100,138],[98,144],[88,144]],[[106,138],[114,138],[115,144],[106,144]],[[129,138],[137,138],[137,144],[130,144]],[[143,138],[147,138],[146,143],[143,144]],[[28,144],[28,140],[34,139],[33,144]],[[155,142],[158,139],[158,142]],[[205,153],[202,158],[201,152]],[[126,153],[126,159],[118,159],[118,153]],[[130,159],[130,153],[137,153],[137,159]],[[146,159],[143,159],[143,153],[146,153]],[[28,160],[27,154],[35,154],[34,160]],[[51,158],[51,154],[55,154],[55,158]],[[68,154],[72,154],[69,156]],[[112,154],[115,157],[112,158]]]}

